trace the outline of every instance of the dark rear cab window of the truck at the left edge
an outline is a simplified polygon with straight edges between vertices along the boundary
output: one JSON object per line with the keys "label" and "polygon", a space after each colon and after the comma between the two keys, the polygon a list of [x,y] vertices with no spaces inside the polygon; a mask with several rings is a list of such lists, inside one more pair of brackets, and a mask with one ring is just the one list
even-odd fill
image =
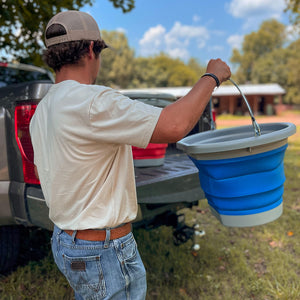
{"label": "dark rear cab window of the truck at the left edge", "polygon": [[47,73],[0,66],[0,87],[36,80],[51,80]]}

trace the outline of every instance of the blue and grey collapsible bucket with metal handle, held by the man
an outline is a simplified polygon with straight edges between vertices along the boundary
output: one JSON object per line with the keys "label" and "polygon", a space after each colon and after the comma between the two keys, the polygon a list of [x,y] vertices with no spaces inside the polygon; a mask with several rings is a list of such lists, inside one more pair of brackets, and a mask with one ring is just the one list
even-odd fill
{"label": "blue and grey collapsible bucket with metal handle, held by the man", "polygon": [[262,225],[280,217],[287,138],[296,132],[292,123],[258,125],[242,96],[252,126],[206,131],[177,143],[198,168],[212,213],[232,227]]}

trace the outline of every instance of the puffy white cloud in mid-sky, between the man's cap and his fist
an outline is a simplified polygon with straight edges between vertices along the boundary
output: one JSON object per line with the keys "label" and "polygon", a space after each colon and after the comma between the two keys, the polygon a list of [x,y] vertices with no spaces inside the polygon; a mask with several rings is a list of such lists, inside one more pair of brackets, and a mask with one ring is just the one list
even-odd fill
{"label": "puffy white cloud in mid-sky, between the man's cap and his fist", "polygon": [[139,41],[142,56],[154,55],[163,51],[171,57],[189,58],[190,46],[196,45],[201,49],[206,45],[209,33],[205,27],[182,25],[175,22],[170,31],[162,25],[151,27]]}

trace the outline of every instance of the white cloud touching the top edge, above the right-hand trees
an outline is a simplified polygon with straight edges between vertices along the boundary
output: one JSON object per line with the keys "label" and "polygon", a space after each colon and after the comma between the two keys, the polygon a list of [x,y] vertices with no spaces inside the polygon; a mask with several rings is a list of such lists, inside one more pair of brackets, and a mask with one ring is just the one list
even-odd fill
{"label": "white cloud touching the top edge, above the right-hand trees", "polygon": [[227,4],[232,16],[245,19],[246,29],[256,27],[266,19],[280,19],[285,7],[285,0],[231,0]]}

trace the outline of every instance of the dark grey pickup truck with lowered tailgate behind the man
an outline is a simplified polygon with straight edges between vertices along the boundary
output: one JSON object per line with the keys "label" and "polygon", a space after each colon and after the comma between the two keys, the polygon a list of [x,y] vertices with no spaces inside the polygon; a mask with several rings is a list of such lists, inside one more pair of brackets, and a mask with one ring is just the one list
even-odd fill
{"label": "dark grey pickup truck with lowered tailgate behind the man", "polygon": [[[44,69],[0,64],[0,273],[15,266],[24,228],[53,227],[34,174],[29,135],[35,108],[52,84],[51,73]],[[142,101],[154,99],[154,105],[176,101],[172,95],[128,96]],[[209,130],[211,118],[208,105],[190,134]],[[169,144],[162,165],[135,167],[135,176],[139,211],[134,226],[173,226],[175,244],[190,238],[193,228],[185,225],[184,215],[178,212],[197,205],[204,193],[198,171],[186,154],[176,149],[175,144]]]}

